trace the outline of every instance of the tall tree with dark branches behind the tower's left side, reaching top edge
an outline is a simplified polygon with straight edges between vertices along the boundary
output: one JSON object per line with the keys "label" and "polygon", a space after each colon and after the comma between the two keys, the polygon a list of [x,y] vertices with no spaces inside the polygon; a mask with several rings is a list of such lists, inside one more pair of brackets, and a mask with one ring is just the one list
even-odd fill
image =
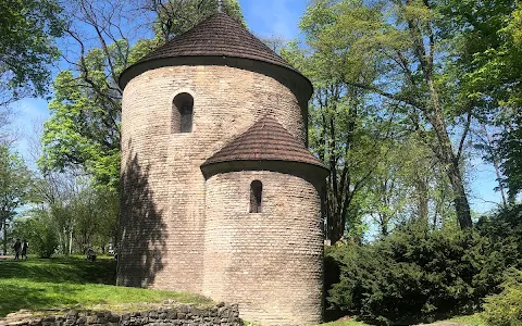
{"label": "tall tree with dark branches behind the tower's left side, reaching top edge", "polygon": [[[170,37],[217,11],[217,3],[210,0],[146,4],[156,14],[158,35],[139,39],[134,46],[119,26],[128,14],[124,3],[80,0],[71,10],[66,34],[78,53],[77,58],[66,58],[71,70],[61,72],[53,83],[49,104],[52,114],[45,125],[44,155],[39,161],[45,171],[82,166],[99,185],[116,191],[123,93],[117,84],[120,73]],[[225,1],[224,7],[240,14],[236,0]],[[146,15],[144,7],[139,14]],[[94,37],[86,37],[86,30]],[[161,35],[162,30],[166,34]]]}

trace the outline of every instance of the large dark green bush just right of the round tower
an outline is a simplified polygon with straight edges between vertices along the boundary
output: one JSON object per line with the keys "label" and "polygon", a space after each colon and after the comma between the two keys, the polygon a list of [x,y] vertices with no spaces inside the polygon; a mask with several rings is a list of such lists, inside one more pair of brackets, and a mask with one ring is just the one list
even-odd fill
{"label": "large dark green bush just right of the round tower", "polygon": [[328,302],[373,322],[418,323],[476,311],[505,258],[476,231],[412,224],[375,243],[327,250],[340,267]]}

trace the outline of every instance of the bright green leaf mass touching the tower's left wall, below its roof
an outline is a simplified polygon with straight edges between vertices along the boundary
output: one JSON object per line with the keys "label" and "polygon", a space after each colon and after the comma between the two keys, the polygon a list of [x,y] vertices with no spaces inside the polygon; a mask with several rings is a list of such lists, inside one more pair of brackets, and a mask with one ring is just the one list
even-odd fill
{"label": "bright green leaf mass touching the tower's left wall, below its roof", "polygon": [[[122,65],[112,45],[109,57],[100,49],[89,51],[84,60],[86,72],[79,78],[63,71],[54,79],[51,117],[46,122],[40,167],[64,170],[83,166],[103,186],[117,189],[120,171],[121,96],[115,80],[105,79],[108,60]],[[87,82],[87,83],[86,83]]]}

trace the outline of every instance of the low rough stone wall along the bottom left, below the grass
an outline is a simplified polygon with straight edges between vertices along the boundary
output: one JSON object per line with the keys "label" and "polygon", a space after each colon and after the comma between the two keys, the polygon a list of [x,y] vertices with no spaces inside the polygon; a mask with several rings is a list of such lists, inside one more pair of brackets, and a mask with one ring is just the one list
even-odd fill
{"label": "low rough stone wall along the bottom left, below the grass", "polygon": [[114,313],[110,311],[78,312],[71,310],[63,315],[45,317],[8,317],[0,321],[5,326],[238,326],[243,325],[237,305],[219,304],[212,308],[196,308],[179,305],[175,308],[159,308],[132,313]]}

